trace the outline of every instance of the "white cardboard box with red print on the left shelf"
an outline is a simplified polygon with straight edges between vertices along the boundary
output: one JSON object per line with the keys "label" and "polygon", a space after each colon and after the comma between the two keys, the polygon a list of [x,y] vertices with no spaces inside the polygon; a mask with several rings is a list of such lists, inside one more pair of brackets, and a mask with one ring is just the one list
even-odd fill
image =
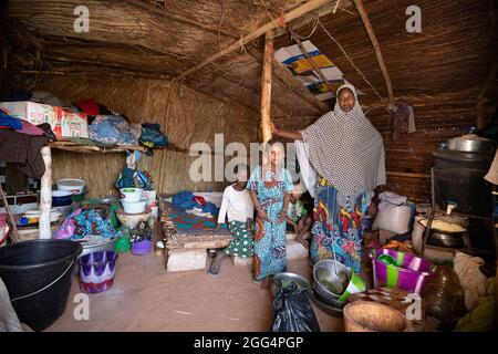
{"label": "white cardboard box with red print on the left shelf", "polygon": [[49,123],[58,139],[64,137],[89,137],[89,123],[85,113],[65,112],[62,107],[30,101],[0,102],[7,114],[39,125]]}

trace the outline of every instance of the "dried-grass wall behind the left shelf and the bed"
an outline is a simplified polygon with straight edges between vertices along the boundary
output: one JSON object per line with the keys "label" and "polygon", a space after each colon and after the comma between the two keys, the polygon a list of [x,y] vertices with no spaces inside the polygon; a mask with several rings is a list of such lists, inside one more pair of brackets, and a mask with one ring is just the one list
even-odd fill
{"label": "dried-grass wall behind the left shelf and the bed", "polygon": [[[50,76],[30,85],[30,88],[50,91],[66,102],[94,98],[126,115],[133,123],[159,123],[170,143],[181,149],[188,150],[191,144],[205,142],[214,150],[215,134],[224,134],[225,144],[241,142],[248,146],[250,142],[257,142],[258,117],[253,112],[186,86],[175,84],[169,90],[167,81]],[[221,190],[226,181],[190,180],[188,171],[196,158],[185,152],[154,150],[154,156],[142,157],[138,168],[152,174],[156,189],[162,192]],[[157,186],[163,163],[163,184]],[[113,190],[124,164],[124,154],[86,155],[58,150],[53,152],[53,177],[84,178],[89,181],[90,196],[97,197]]]}

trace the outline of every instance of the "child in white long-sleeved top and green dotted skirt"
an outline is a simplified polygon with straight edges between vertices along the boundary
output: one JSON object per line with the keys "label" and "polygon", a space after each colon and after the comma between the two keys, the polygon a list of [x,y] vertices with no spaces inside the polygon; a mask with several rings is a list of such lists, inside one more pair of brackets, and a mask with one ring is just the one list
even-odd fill
{"label": "child in white long-sleeved top and green dotted skirt", "polygon": [[228,228],[234,236],[230,244],[216,254],[208,274],[216,277],[219,273],[221,261],[227,256],[238,256],[249,258],[253,254],[252,242],[252,217],[255,215],[255,205],[247,187],[247,177],[249,167],[247,165],[237,165],[237,183],[225,189],[221,207],[218,215],[218,227],[225,223],[228,215]]}

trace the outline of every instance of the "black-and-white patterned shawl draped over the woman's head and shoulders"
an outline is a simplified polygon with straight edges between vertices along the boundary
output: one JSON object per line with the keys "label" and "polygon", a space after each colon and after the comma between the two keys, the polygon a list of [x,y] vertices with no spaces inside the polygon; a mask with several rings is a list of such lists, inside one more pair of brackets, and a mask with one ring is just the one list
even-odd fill
{"label": "black-and-white patterned shawl draped over the woman's head and shoulders", "polygon": [[371,191],[384,185],[385,156],[381,134],[363,114],[354,86],[344,84],[355,97],[353,110],[334,110],[301,131],[309,145],[310,162],[323,178],[345,196]]}

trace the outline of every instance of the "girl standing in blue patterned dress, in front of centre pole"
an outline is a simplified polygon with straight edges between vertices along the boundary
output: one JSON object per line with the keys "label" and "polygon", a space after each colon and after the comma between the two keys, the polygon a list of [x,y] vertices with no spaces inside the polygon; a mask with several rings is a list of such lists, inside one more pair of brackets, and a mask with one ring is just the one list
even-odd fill
{"label": "girl standing in blue patterned dress, in front of centre pole", "polygon": [[248,189],[258,210],[255,226],[253,281],[268,288],[269,278],[287,268],[286,216],[292,190],[290,173],[283,168],[283,144],[267,143],[267,163],[249,178]]}

